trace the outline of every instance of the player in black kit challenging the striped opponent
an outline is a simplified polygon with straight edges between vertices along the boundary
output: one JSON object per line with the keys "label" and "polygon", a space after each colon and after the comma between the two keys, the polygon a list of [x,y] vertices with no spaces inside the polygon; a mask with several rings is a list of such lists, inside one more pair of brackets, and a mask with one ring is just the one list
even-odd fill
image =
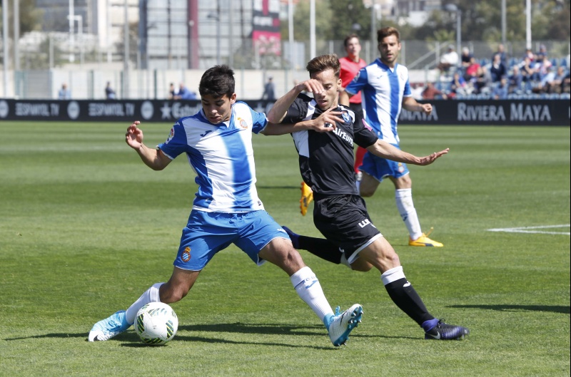
{"label": "player in black kit challenging the striped opponent", "polygon": [[[432,316],[406,279],[395,250],[370,220],[353,170],[354,144],[374,155],[413,165],[429,165],[448,149],[416,157],[378,139],[362,123],[355,123],[353,111],[338,105],[341,80],[336,55],[313,58],[306,68],[310,79],[279,98],[268,113],[271,123],[294,123],[300,129],[292,133],[300,171],[313,190],[313,222],[325,236],[305,237],[283,227],[294,247],[356,271],[375,267],[390,298],[423,328],[425,339],[463,339],[468,329]],[[313,98],[302,91],[313,93]]]}

